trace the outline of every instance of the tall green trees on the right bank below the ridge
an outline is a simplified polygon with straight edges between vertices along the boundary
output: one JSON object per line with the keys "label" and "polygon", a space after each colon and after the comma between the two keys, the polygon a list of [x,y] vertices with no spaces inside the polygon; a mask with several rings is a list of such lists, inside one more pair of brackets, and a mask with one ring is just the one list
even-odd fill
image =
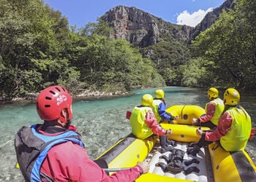
{"label": "tall green trees on the right bank below the ridge", "polygon": [[222,87],[255,89],[255,1],[236,1],[234,10],[223,12],[214,25],[192,42],[195,55],[214,62],[212,83]]}

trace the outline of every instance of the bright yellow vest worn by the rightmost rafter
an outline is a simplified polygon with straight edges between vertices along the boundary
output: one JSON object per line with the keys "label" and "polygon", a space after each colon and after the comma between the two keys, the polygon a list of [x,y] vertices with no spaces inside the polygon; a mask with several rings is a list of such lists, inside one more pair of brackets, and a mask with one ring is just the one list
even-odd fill
{"label": "bright yellow vest worn by the rightmost rafter", "polygon": [[228,108],[227,113],[232,116],[232,124],[226,135],[220,138],[220,143],[226,151],[242,151],[252,129],[251,117],[241,106]]}

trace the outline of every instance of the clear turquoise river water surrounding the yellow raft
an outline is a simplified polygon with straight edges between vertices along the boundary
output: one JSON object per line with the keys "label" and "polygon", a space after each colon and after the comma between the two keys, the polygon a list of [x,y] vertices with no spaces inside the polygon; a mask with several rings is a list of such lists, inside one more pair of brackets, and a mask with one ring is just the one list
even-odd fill
{"label": "clear turquoise river water surrounding the yellow raft", "polygon": [[[165,100],[167,107],[173,105],[205,106],[208,101],[206,90],[184,87],[167,87]],[[126,111],[132,111],[135,105],[140,104],[140,98],[145,93],[154,95],[154,89],[134,90],[132,95],[118,98],[94,98],[75,100],[72,106],[72,124],[78,127],[83,135],[82,140],[91,159],[112,146],[118,139],[131,131]],[[222,93],[220,94],[222,96]],[[221,97],[222,98],[222,97]],[[256,93],[241,93],[241,106],[255,120]],[[14,135],[23,125],[42,123],[37,116],[33,102],[23,102],[0,105],[0,181],[23,181],[20,170],[15,168],[16,157],[13,146]],[[249,141],[246,150],[256,161],[256,138]]]}

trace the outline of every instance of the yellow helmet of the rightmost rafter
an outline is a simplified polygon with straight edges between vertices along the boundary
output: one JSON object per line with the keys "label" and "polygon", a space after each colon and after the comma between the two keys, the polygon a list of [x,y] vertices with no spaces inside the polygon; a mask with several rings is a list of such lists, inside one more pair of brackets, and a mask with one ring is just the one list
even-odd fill
{"label": "yellow helmet of the rightmost rafter", "polygon": [[236,89],[228,88],[224,92],[224,104],[229,106],[236,106],[239,103],[240,94]]}

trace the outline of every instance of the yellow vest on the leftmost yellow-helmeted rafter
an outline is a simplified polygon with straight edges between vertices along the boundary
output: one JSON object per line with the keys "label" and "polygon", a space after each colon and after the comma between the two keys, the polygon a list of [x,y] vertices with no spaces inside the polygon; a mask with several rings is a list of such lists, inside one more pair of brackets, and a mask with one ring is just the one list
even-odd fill
{"label": "yellow vest on the leftmost yellow-helmeted rafter", "polygon": [[132,110],[129,122],[131,123],[132,134],[137,138],[145,139],[153,134],[151,128],[146,124],[146,114],[148,111],[152,111],[152,109],[146,106],[135,106]]}

